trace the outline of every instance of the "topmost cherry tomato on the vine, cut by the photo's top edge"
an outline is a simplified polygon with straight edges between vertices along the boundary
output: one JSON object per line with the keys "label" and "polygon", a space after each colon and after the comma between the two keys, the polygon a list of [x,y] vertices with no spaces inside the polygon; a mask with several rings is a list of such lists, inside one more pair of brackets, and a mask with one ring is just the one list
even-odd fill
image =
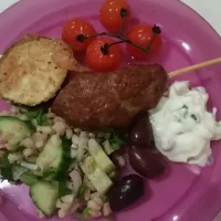
{"label": "topmost cherry tomato on the vine, cut by the photo's top edge", "polygon": [[[123,10],[123,11],[122,11]],[[123,24],[122,12],[126,12],[125,24],[129,21],[130,9],[126,0],[105,0],[99,10],[102,24],[110,32],[119,32]]]}

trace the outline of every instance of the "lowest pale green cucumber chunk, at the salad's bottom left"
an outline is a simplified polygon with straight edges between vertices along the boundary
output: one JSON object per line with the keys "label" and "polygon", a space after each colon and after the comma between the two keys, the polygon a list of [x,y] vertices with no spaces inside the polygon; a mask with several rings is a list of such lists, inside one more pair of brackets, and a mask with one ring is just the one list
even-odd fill
{"label": "lowest pale green cucumber chunk, at the salad's bottom left", "polygon": [[48,181],[38,181],[30,188],[30,197],[36,208],[48,218],[54,214],[59,188]]}

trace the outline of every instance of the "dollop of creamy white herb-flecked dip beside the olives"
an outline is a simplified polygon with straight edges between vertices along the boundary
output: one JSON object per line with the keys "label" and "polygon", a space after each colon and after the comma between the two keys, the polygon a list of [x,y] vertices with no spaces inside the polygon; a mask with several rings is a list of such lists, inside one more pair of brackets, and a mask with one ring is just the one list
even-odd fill
{"label": "dollop of creamy white herb-flecked dip beside the olives", "polygon": [[210,140],[221,138],[221,122],[207,110],[209,95],[188,82],[170,86],[158,106],[150,110],[157,149],[169,160],[204,166],[211,155]]}

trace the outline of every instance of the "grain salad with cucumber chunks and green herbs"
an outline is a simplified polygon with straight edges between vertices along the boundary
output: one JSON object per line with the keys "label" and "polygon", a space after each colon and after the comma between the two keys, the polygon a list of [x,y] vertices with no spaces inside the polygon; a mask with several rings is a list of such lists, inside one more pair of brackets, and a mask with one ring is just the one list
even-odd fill
{"label": "grain salad with cucumber chunks and green herbs", "polygon": [[107,191],[113,187],[123,139],[114,131],[88,133],[69,127],[43,107],[0,113],[1,179],[30,187],[40,217],[108,217]]}

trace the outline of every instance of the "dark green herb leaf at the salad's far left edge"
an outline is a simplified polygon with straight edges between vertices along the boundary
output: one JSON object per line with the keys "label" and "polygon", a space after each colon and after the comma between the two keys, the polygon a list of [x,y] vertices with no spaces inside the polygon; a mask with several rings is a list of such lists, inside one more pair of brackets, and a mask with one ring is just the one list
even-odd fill
{"label": "dark green herb leaf at the salad's far left edge", "polygon": [[4,156],[0,159],[0,175],[3,180],[13,181],[13,166],[9,162],[8,159],[9,154],[4,154]]}

